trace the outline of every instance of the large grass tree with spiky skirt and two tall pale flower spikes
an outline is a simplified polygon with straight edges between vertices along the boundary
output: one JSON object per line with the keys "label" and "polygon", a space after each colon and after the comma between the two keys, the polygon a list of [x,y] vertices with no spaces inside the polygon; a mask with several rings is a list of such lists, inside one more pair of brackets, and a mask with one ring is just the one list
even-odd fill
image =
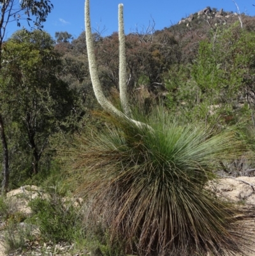
{"label": "large grass tree with spiky skirt and two tall pale flower spikes", "polygon": [[[162,110],[131,114],[126,92],[123,6],[119,5],[120,102],[103,94],[94,56],[89,0],[85,1],[89,68],[100,116],[109,124],[73,140],[71,159],[87,198],[88,218],[112,241],[138,255],[237,255],[249,242],[238,210],[206,188],[219,160],[240,153],[235,134],[214,135],[199,124],[182,124]],[[71,157],[70,157],[71,156]],[[249,238],[249,236],[248,236]],[[247,249],[247,247],[246,247]]]}

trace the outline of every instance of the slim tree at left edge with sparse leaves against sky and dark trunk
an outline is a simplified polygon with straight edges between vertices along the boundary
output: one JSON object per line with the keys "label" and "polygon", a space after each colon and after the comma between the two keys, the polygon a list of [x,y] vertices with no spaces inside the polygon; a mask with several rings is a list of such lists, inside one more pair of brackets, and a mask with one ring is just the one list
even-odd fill
{"label": "slim tree at left edge with sparse leaves against sky and dark trunk", "polygon": [[[4,0],[0,4],[0,49],[2,48],[6,29],[10,22],[17,22],[20,27],[26,20],[29,26],[33,22],[34,27],[43,28],[43,22],[53,8],[50,0]],[[2,53],[0,51],[0,70],[2,68]],[[2,193],[6,193],[9,183],[8,143],[4,132],[4,116],[0,110],[0,136],[3,146],[3,182]]]}

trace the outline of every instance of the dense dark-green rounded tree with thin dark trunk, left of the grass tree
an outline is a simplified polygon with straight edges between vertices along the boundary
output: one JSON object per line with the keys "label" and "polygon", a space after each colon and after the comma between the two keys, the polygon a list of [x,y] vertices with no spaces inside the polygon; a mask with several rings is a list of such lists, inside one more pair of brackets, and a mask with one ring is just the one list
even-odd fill
{"label": "dense dark-green rounded tree with thin dark trunk, left of the grass tree", "polygon": [[71,114],[72,93],[57,77],[61,63],[49,34],[17,31],[4,43],[2,55],[1,110],[11,113],[18,124],[33,155],[32,172],[37,174],[50,135],[64,128],[62,122]]}

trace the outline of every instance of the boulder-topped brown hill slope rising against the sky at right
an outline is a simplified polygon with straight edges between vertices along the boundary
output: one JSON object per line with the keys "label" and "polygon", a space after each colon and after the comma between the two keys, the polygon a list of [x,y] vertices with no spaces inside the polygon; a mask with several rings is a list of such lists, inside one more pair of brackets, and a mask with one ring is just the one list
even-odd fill
{"label": "boulder-topped brown hill slope rising against the sky at right", "polygon": [[[223,9],[217,10],[210,7],[206,7],[197,13],[192,13],[189,17],[180,20],[178,24],[164,30],[170,31],[175,39],[179,41],[183,51],[182,61],[189,63],[196,56],[198,43],[201,40],[209,39],[217,27],[231,26],[235,22],[240,22],[240,19],[244,29],[255,31],[255,17],[244,14],[238,15],[236,12],[224,11]],[[157,33],[163,33],[163,31],[157,31]]]}

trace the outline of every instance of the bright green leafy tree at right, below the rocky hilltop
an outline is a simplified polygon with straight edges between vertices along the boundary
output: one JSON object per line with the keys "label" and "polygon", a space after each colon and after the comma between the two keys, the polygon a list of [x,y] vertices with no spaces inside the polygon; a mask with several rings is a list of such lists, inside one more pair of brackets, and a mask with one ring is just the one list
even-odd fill
{"label": "bright green leafy tree at right, below the rocky hilltop", "polygon": [[207,97],[213,94],[218,103],[235,102],[243,93],[245,77],[254,72],[255,34],[235,25],[213,36],[200,43],[192,76]]}

